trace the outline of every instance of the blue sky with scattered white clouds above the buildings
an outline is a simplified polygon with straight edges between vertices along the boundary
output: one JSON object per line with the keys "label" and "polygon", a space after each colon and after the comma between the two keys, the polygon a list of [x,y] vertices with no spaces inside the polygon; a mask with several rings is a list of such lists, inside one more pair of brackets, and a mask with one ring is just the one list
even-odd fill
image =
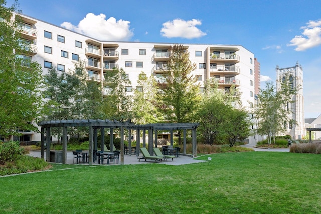
{"label": "blue sky with scattered white clouds above the buildings", "polygon": [[[7,4],[11,5],[12,0]],[[321,1],[20,0],[23,14],[101,40],[242,45],[261,63],[303,67],[305,118],[321,114]],[[94,23],[94,24],[93,24]],[[96,23],[96,25],[95,25]],[[261,82],[264,86],[265,82]]]}

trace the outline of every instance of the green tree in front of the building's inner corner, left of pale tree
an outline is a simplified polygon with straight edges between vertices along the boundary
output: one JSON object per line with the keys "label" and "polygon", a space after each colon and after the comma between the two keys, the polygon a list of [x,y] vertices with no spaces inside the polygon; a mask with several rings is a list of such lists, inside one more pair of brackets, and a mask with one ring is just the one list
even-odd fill
{"label": "green tree in front of the building's inner corner, left of pale tree", "polygon": [[132,101],[127,94],[131,82],[124,69],[113,68],[105,74],[102,110],[108,119],[127,120],[131,118]]}

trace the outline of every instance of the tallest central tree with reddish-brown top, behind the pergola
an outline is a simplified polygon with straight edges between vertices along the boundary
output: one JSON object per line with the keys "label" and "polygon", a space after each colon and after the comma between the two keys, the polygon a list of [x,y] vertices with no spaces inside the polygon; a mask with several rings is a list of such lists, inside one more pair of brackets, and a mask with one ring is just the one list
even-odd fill
{"label": "tallest central tree with reddish-brown top, behind the pergola", "polygon": [[[191,74],[196,64],[189,58],[183,45],[174,44],[170,50],[170,61],[164,71],[165,82],[158,93],[161,110],[166,121],[175,123],[192,122],[200,100],[199,84]],[[179,131],[179,144],[181,135]]]}

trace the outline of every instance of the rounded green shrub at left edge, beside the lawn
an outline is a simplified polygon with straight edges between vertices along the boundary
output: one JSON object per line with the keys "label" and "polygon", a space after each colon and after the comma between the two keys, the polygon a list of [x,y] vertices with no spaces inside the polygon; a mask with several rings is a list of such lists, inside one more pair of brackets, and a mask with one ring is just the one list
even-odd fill
{"label": "rounded green shrub at left edge, beside the lawn", "polygon": [[13,161],[17,155],[22,153],[23,148],[20,148],[18,141],[0,142],[0,164]]}

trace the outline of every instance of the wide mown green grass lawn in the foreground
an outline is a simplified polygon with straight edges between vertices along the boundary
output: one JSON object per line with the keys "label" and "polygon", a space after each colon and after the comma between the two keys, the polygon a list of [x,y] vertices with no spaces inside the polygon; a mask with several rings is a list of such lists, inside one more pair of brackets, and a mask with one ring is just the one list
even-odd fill
{"label": "wide mown green grass lawn in the foreground", "polygon": [[[320,155],[219,153],[205,163],[81,166],[0,177],[2,213],[321,213]],[[68,168],[68,167],[67,167]]]}

